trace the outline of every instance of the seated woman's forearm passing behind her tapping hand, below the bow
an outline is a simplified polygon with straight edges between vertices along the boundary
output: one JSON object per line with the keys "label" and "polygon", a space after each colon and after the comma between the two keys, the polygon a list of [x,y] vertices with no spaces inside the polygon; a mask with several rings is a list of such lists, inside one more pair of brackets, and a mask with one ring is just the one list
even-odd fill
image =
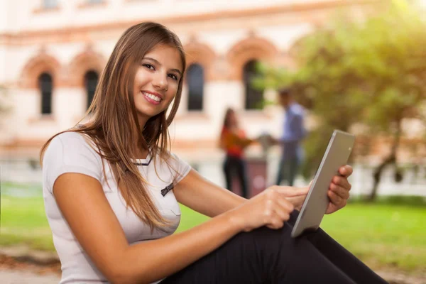
{"label": "seated woman's forearm passing behind her tapping hand, below the bow", "polygon": [[215,185],[195,170],[183,178],[173,190],[178,202],[209,217],[234,209],[247,200]]}

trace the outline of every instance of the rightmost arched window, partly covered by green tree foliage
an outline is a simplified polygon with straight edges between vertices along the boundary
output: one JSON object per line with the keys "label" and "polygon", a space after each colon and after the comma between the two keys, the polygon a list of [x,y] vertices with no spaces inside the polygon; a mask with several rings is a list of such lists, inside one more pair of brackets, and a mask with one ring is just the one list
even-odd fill
{"label": "rightmost arched window, partly covered by green tree foliage", "polygon": [[244,65],[243,80],[246,91],[246,109],[262,109],[263,91],[253,87],[253,80],[258,75],[257,60],[250,60]]}

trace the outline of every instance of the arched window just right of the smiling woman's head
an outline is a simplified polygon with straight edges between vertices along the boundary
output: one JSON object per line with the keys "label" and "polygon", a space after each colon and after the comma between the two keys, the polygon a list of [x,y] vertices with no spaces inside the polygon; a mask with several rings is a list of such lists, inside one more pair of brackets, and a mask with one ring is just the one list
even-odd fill
{"label": "arched window just right of the smiling woman's head", "polygon": [[192,64],[187,69],[188,110],[201,111],[204,94],[204,70],[200,64]]}

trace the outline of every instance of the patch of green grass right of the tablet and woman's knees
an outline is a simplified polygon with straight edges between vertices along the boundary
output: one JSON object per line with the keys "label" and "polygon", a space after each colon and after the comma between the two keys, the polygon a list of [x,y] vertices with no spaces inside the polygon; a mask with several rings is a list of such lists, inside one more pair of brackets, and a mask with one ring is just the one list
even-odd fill
{"label": "patch of green grass right of the tablet and woman's knees", "polygon": [[348,204],[324,217],[322,229],[375,268],[424,269],[425,207]]}

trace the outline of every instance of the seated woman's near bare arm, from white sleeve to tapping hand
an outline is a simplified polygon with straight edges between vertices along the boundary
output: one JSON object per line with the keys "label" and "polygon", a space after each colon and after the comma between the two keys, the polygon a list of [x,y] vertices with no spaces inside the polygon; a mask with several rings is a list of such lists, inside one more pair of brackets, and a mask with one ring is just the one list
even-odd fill
{"label": "seated woman's near bare arm, from white sleeve to tapping hand", "polygon": [[165,278],[214,251],[239,231],[264,225],[278,229],[293,210],[278,192],[267,190],[200,226],[130,246],[98,180],[65,173],[56,180],[53,193],[70,229],[99,271],[110,282],[125,284]]}

